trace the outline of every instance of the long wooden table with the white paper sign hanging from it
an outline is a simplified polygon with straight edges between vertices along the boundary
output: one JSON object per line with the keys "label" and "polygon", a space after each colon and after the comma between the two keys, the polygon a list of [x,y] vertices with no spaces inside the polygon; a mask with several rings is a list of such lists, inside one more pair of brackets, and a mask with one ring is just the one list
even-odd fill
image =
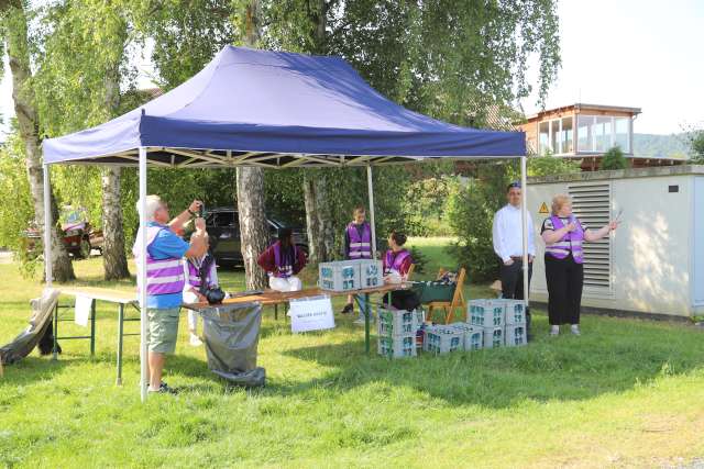
{"label": "long wooden table with the white paper sign hanging from it", "polygon": [[[290,300],[299,300],[301,298],[309,297],[319,297],[321,294],[327,294],[330,297],[346,297],[348,294],[355,295],[364,295],[364,348],[366,353],[370,353],[370,319],[372,316],[372,305],[370,303],[370,294],[373,293],[391,293],[395,290],[406,290],[410,288],[410,283],[386,283],[382,287],[376,288],[367,288],[363,290],[353,290],[353,291],[330,291],[330,290],[321,290],[319,288],[307,288],[299,291],[275,291],[275,290],[266,290],[262,293],[257,294],[248,294],[242,297],[229,298],[222,301],[222,304],[242,304],[242,303],[252,303],[257,302],[262,305],[278,305],[283,303],[288,303]],[[184,304],[184,308],[194,311],[200,311],[201,309],[210,308],[210,304],[204,303],[191,303]]]}

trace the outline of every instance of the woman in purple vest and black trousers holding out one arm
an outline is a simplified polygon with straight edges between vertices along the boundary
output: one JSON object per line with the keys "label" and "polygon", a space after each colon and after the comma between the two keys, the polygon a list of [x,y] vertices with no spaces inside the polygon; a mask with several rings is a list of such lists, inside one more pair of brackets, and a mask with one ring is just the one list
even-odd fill
{"label": "woman in purple vest and black trousers holding out one arm", "polygon": [[542,222],[546,242],[546,280],[550,335],[560,334],[561,324],[570,324],[580,335],[580,308],[584,281],[583,243],[608,236],[618,222],[592,231],[572,214],[572,200],[559,194],[552,199],[552,215]]}

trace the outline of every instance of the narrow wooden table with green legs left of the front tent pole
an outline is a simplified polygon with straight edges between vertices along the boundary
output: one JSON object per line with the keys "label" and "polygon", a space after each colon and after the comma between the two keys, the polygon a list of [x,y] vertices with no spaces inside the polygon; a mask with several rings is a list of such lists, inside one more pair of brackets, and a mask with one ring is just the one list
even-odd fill
{"label": "narrow wooden table with green legs left of the front tent pole", "polygon": [[[122,339],[127,335],[140,335],[136,333],[133,334],[124,334],[124,322],[125,321],[140,321],[139,319],[125,320],[124,319],[124,306],[125,304],[132,304],[134,308],[139,310],[136,293],[119,291],[119,290],[110,290],[107,288],[95,288],[95,287],[77,287],[77,288],[62,288],[62,294],[67,294],[70,297],[86,297],[90,298],[92,301],[92,308],[90,311],[90,335],[89,336],[73,336],[73,337],[58,337],[58,302],[56,302],[56,308],[54,309],[54,359],[57,359],[57,340],[61,338],[65,339],[79,339],[79,338],[90,338],[90,355],[96,354],[96,301],[105,301],[108,303],[113,303],[118,305],[118,377],[116,379],[116,383],[118,386],[122,384]],[[63,306],[70,308],[70,306]]]}

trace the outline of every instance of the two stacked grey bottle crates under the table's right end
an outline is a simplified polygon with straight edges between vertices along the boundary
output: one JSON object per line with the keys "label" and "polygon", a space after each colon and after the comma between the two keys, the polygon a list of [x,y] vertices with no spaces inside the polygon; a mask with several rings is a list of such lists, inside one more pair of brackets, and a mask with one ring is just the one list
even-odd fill
{"label": "two stacked grey bottle crates under the table's right end", "polygon": [[388,358],[415,357],[418,315],[416,311],[378,309],[378,354]]}

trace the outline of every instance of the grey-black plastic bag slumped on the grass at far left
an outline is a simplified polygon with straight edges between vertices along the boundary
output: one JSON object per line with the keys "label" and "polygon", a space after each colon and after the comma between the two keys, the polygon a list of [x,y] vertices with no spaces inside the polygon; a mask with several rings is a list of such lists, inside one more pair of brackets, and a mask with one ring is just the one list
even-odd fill
{"label": "grey-black plastic bag slumped on the grass at far left", "polygon": [[30,325],[11,343],[0,347],[0,359],[3,364],[20,361],[30,355],[37,345],[42,355],[52,353],[54,347],[52,317],[58,294],[58,290],[44,289],[42,298],[30,301],[32,305]]}

